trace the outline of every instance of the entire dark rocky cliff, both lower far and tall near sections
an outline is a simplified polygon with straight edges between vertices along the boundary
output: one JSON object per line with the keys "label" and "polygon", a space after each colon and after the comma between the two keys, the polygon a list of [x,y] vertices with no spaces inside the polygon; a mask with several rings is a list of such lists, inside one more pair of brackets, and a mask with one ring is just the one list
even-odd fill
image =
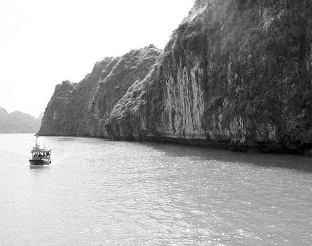
{"label": "entire dark rocky cliff, both lower far and tall near sections", "polygon": [[39,133],[312,156],[312,2],[196,0],[163,51],[57,86]]}

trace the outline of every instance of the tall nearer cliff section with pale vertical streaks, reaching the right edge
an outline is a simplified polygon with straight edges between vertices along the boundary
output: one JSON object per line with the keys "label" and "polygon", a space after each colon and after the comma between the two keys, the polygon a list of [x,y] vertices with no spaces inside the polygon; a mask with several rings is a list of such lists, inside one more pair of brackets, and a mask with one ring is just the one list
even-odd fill
{"label": "tall nearer cliff section with pale vertical streaks, reaching the right edge", "polygon": [[103,137],[312,148],[312,3],[197,0]]}

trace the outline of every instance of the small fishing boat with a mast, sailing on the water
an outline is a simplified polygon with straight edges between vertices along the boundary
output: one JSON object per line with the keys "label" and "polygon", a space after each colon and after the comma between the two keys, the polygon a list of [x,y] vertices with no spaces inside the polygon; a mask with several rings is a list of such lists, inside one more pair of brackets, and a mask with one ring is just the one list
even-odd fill
{"label": "small fishing boat with a mast, sailing on the water", "polygon": [[40,143],[38,143],[39,135],[38,133],[35,134],[36,136],[36,145],[32,148],[31,152],[31,159],[29,159],[29,163],[31,165],[50,165],[51,164],[51,150],[47,149],[45,145],[43,148],[40,147]]}

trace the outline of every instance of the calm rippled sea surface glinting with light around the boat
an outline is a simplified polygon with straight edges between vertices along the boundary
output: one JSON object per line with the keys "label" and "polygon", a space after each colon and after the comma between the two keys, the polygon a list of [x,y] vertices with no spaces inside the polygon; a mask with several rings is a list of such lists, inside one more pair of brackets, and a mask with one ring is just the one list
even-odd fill
{"label": "calm rippled sea surface glinting with light around the boat", "polygon": [[312,158],[0,134],[0,245],[311,245]]}

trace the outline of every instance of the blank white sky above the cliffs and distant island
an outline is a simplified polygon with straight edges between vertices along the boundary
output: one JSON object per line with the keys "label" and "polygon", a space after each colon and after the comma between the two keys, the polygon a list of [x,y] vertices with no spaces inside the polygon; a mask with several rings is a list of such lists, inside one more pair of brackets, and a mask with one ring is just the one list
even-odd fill
{"label": "blank white sky above the cliffs and distant island", "polygon": [[36,117],[63,80],[151,43],[163,49],[194,0],[0,0],[0,107]]}

